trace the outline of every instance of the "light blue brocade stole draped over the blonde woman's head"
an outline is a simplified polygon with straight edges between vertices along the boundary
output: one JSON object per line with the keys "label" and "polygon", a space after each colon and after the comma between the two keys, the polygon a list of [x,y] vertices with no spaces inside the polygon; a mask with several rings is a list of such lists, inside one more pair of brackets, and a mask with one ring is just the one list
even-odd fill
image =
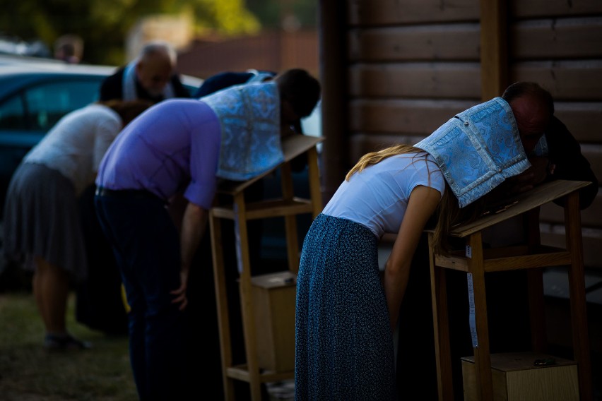
{"label": "light blue brocade stole draped over the blonde woman's head", "polygon": [[435,157],[461,208],[531,166],[501,97],[457,114],[414,146]]}

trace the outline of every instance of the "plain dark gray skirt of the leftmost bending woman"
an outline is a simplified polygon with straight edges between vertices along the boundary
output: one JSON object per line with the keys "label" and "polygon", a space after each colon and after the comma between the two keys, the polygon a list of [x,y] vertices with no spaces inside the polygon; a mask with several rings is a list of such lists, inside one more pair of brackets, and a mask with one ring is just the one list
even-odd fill
{"label": "plain dark gray skirt of the leftmost bending woman", "polygon": [[57,170],[22,163],[4,205],[4,253],[34,270],[34,256],[85,279],[88,265],[75,188]]}

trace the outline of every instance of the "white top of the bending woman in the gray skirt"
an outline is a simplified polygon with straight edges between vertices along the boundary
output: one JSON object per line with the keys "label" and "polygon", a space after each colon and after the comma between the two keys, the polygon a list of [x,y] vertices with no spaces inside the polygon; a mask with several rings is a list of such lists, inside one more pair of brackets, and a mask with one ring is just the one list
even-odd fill
{"label": "white top of the bending woman in the gray skirt", "polygon": [[102,156],[121,129],[119,114],[101,104],[90,104],[60,119],[23,162],[58,170],[79,194],[94,182]]}

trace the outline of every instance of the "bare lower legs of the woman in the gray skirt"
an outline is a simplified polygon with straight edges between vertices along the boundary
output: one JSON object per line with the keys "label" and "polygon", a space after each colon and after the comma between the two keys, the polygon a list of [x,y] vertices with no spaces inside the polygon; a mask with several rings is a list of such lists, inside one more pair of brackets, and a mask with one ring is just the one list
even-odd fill
{"label": "bare lower legs of the woman in the gray skirt", "polygon": [[66,335],[65,315],[69,297],[69,273],[37,256],[35,264],[33,292],[46,332]]}

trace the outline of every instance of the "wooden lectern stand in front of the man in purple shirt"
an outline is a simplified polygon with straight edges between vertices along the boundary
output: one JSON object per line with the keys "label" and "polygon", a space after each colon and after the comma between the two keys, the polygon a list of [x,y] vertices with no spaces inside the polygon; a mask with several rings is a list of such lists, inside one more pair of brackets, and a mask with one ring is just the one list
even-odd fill
{"label": "wooden lectern stand in front of the man in purple shirt", "polygon": [[[299,245],[295,216],[301,213],[311,213],[315,217],[322,209],[316,145],[323,139],[305,135],[285,138],[282,143],[284,153],[282,164],[248,181],[223,181],[218,184],[218,193],[232,196],[231,205],[216,205],[209,213],[225,400],[235,400],[234,380],[248,382],[251,388],[252,400],[259,401],[261,400],[261,383],[294,378],[294,370],[260,371],[257,360],[257,331],[252,301],[252,266],[249,263],[247,220],[284,217],[288,270],[296,275],[299,269]],[[303,153],[307,153],[309,167],[309,199],[297,198],[293,193],[290,161]],[[278,168],[281,169],[282,198],[245,203],[244,188]],[[230,219],[235,222],[242,326],[247,357],[247,364],[238,366],[232,364],[232,342],[230,323],[228,323],[228,294],[226,293],[220,219]]]}

